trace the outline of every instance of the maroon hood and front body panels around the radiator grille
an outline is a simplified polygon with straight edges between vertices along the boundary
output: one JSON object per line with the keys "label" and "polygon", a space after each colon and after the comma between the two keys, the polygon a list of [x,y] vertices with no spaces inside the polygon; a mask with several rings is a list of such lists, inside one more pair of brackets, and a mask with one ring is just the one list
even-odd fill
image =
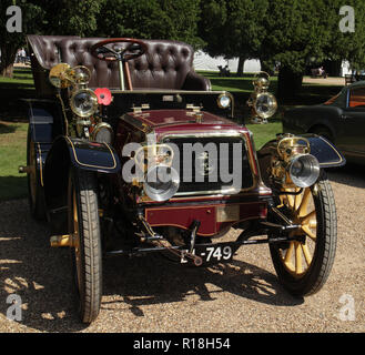
{"label": "maroon hood and front body panels around the radiator grille", "polygon": [[[186,110],[156,110],[145,111],[141,114],[126,113],[119,125],[115,146],[124,146],[126,136],[132,134],[139,135],[141,142],[145,141],[144,131],[153,132],[158,143],[163,143],[169,138],[176,140],[190,136],[193,138],[190,142],[194,143],[204,136],[214,141],[214,138],[237,135],[247,143],[247,171],[252,172],[250,186],[245,186],[244,191],[234,197],[230,194],[222,195],[221,191],[211,191],[209,185],[205,185],[205,191],[195,194],[191,191],[185,193],[178,191],[178,196],[170,199],[164,206],[161,206],[161,203],[156,201],[148,199],[146,202],[142,197],[138,197],[135,203],[144,206],[144,216],[148,223],[151,226],[169,225],[189,230],[192,222],[199,220],[201,224],[197,235],[215,236],[240,222],[266,219],[267,196],[271,196],[272,192],[261,183],[250,131],[225,118],[209,112],[203,113],[201,123],[192,122],[192,115],[189,113]],[[143,126],[143,131],[136,126]],[[226,204],[239,206],[236,219],[227,222],[219,221],[216,211]]]}

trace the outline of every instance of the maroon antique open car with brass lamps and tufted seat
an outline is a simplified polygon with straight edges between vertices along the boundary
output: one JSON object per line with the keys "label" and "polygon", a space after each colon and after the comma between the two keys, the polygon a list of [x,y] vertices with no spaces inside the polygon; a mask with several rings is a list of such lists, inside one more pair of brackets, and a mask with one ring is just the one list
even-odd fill
{"label": "maroon antique open car with brass lamps and tufted seat", "polygon": [[[20,171],[32,215],[50,222],[51,246],[71,250],[82,322],[99,314],[111,255],[158,253],[203,266],[268,244],[286,290],[304,296],[323,286],[336,248],[323,168],[345,162],[334,145],[278,134],[256,152],[234,119],[233,95],[195,73],[185,43],[28,41],[39,98],[29,101]],[[276,108],[267,83],[257,75],[250,101],[261,118]],[[236,237],[225,240],[232,227]]]}

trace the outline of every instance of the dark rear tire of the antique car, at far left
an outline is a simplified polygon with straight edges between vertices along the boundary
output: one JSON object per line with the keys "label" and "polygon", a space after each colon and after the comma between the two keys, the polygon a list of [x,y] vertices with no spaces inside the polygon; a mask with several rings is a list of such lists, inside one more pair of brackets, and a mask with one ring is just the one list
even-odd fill
{"label": "dark rear tire of the antique car, at far left", "polygon": [[45,220],[45,203],[41,185],[40,171],[37,166],[37,146],[32,141],[30,128],[27,135],[27,165],[34,165],[34,175],[27,174],[28,203],[32,217],[37,221]]}

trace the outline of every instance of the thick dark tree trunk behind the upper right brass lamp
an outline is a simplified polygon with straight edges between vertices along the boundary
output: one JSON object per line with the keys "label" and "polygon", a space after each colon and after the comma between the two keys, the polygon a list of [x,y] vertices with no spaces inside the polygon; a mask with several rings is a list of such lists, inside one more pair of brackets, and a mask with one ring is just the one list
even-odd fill
{"label": "thick dark tree trunk behind the upper right brass lamp", "polygon": [[283,103],[295,99],[302,89],[303,73],[293,72],[290,68],[283,67],[278,71],[277,99]]}

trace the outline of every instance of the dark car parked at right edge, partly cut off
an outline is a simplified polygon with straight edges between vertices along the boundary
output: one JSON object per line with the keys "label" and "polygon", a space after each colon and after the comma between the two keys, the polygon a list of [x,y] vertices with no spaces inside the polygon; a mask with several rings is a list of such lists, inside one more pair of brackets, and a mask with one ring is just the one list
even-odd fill
{"label": "dark car parked at right edge, partly cut off", "polygon": [[365,164],[365,81],[344,87],[323,104],[287,110],[283,129],[320,134],[336,144],[348,162]]}

